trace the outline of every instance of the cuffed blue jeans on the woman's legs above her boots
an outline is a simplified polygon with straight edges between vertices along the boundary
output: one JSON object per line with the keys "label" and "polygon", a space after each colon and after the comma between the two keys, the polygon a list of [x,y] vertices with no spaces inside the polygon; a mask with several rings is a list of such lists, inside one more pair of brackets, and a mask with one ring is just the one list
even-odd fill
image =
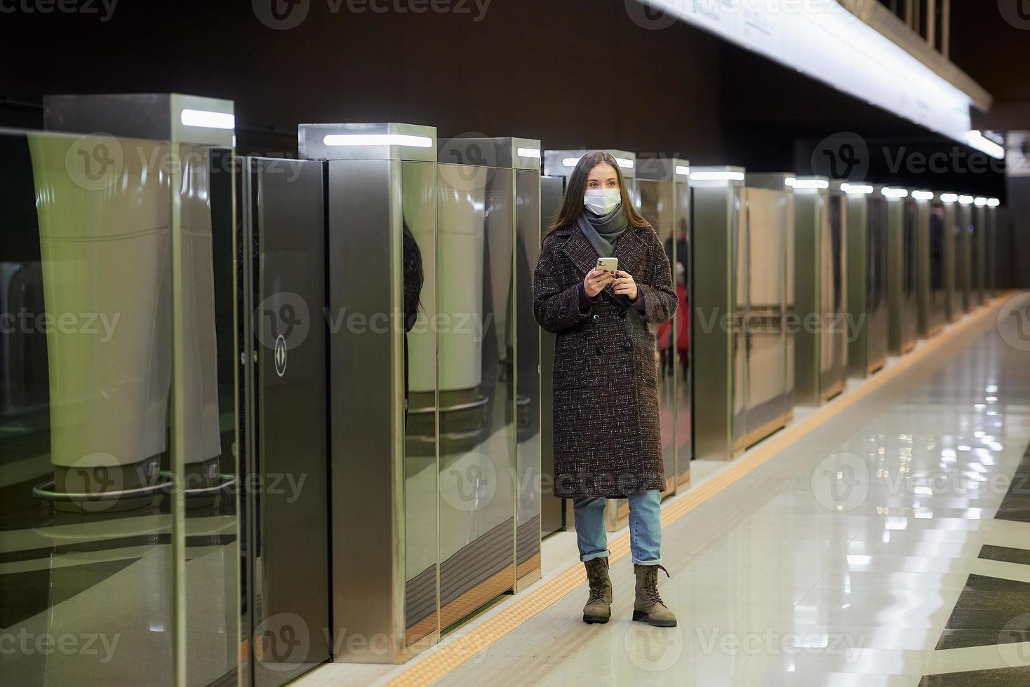
{"label": "cuffed blue jeans on the woman's legs above her boots", "polygon": [[[605,499],[577,499],[573,508],[580,561],[607,558]],[[629,552],[638,566],[661,563],[661,495],[658,490],[629,495]]]}

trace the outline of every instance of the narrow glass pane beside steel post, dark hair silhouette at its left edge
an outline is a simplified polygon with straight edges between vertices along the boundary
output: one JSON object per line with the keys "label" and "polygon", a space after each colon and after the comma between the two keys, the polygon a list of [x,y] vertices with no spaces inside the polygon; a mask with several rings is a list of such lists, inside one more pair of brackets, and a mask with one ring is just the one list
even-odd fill
{"label": "narrow glass pane beside steel post, dark hair silhouette at its left edge", "polygon": [[437,618],[437,225],[434,166],[401,164],[405,314],[404,526],[406,643]]}

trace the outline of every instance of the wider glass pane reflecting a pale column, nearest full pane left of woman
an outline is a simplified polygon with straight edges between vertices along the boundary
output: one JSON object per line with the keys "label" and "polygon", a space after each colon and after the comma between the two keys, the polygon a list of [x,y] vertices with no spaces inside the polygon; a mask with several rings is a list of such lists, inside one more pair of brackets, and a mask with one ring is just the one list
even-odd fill
{"label": "wider glass pane reflecting a pale column, nearest full pane left of woman", "polygon": [[439,166],[442,628],[515,580],[513,174]]}

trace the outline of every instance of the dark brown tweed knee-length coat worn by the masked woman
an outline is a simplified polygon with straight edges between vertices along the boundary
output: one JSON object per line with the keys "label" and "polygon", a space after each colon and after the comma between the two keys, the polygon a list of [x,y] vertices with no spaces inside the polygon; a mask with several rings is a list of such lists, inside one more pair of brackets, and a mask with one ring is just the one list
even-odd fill
{"label": "dark brown tweed knee-length coat worn by the masked woman", "polygon": [[552,231],[534,275],[533,312],[554,344],[554,495],[620,498],[665,489],[654,334],[677,296],[668,258],[650,226],[612,246],[643,294],[641,312],[611,286],[587,313],[580,283],[597,254],[578,226]]}

